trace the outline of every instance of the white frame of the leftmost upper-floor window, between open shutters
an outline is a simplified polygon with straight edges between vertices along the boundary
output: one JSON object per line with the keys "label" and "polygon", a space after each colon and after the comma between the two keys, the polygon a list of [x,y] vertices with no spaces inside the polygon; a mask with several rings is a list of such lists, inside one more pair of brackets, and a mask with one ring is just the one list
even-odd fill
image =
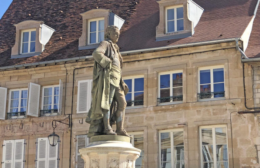
{"label": "white frame of the leftmost upper-floor window, between open shutters", "polygon": [[[9,97],[8,97],[8,113],[11,113],[10,110],[11,110],[11,97],[12,97],[12,91],[19,91],[19,99],[18,99],[18,113],[21,112],[21,96],[22,96],[22,91],[26,91],[27,90],[27,104],[28,104],[28,88],[18,88],[18,89],[10,89],[9,90]],[[18,115],[18,116],[12,116],[10,119],[14,119],[14,118],[23,118],[26,116],[27,114],[27,104],[26,104],[26,111],[22,111],[22,112],[25,112],[25,115]],[[21,116],[21,117],[20,117]]]}

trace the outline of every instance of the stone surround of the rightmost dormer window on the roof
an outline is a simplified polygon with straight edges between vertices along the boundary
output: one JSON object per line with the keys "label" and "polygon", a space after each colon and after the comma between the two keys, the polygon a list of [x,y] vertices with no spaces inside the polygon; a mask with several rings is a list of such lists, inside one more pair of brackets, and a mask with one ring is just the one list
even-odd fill
{"label": "stone surround of the rightmost dormer window on the roof", "polygon": [[[187,16],[187,0],[161,0],[158,1],[160,10],[160,21],[156,27],[156,41],[184,38],[192,35],[192,21]],[[166,8],[183,6],[183,29],[167,33],[166,31]]]}

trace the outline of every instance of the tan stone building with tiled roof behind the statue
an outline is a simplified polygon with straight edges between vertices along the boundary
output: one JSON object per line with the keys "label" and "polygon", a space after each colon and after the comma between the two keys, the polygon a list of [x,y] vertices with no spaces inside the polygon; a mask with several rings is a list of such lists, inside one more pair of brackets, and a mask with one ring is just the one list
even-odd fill
{"label": "tan stone building with tiled roof behind the statue", "polygon": [[256,57],[258,1],[220,3],[13,0],[0,20],[2,167],[84,167],[91,54],[108,25],[121,30],[137,168],[259,167],[259,65],[243,61]]}

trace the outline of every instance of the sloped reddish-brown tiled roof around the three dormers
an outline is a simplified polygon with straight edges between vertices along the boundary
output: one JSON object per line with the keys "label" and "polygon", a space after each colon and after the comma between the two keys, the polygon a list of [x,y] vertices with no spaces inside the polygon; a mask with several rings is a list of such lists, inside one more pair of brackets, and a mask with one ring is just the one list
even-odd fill
{"label": "sloped reddish-brown tiled roof around the three dormers", "polygon": [[[125,20],[118,46],[120,51],[128,51],[241,37],[257,4],[257,0],[194,0],[205,9],[195,27],[195,34],[182,39],[155,41],[155,29],[159,23],[159,5],[156,1],[13,0],[0,20],[0,67],[91,55],[93,49],[78,50],[78,38],[82,34],[80,13],[96,7],[111,9]],[[13,24],[25,20],[44,21],[56,31],[39,56],[10,59],[15,43]]]}

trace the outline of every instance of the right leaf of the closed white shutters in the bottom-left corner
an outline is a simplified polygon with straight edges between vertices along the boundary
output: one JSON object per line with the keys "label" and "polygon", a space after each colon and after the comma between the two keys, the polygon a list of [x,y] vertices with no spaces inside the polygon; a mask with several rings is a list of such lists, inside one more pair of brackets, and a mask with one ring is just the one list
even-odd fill
{"label": "right leaf of the closed white shutters in the bottom-left corner", "polygon": [[14,168],[24,167],[24,155],[25,155],[25,139],[14,140]]}

